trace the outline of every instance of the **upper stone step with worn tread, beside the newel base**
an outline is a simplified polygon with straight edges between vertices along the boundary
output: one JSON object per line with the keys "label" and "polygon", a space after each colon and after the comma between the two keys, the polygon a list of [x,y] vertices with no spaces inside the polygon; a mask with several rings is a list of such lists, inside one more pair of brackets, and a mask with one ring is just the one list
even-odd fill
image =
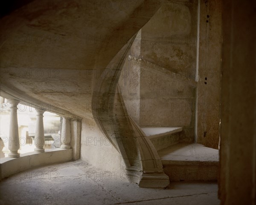
{"label": "upper stone step with worn tread, beside the newel base", "polygon": [[141,128],[156,150],[177,144],[182,134],[181,127],[175,128]]}

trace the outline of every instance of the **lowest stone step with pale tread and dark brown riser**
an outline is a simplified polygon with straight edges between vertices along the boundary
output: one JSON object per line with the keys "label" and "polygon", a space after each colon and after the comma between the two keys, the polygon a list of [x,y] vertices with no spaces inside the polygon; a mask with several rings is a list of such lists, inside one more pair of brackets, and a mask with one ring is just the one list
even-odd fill
{"label": "lowest stone step with pale tread and dark brown riser", "polygon": [[218,150],[200,144],[178,143],[158,151],[170,181],[216,181]]}

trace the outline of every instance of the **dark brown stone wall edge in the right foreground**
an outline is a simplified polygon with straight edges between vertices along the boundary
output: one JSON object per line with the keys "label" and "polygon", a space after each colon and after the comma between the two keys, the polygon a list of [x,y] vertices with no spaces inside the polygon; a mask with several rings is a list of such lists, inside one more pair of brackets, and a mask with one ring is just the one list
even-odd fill
{"label": "dark brown stone wall edge in the right foreground", "polygon": [[256,2],[222,4],[221,205],[256,202]]}

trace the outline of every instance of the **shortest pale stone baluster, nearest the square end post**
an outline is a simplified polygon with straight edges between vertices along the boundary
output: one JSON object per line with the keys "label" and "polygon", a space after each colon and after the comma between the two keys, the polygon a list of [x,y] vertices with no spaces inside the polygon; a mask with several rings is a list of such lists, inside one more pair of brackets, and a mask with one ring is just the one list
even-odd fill
{"label": "shortest pale stone baluster, nearest the square end post", "polygon": [[61,128],[61,148],[70,149],[70,119],[63,117],[62,128]]}

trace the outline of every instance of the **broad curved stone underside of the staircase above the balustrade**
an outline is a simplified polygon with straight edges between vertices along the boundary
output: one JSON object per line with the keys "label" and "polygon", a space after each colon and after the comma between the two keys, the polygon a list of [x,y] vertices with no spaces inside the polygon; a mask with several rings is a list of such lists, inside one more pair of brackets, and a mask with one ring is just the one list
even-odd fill
{"label": "broad curved stone underside of the staircase above the balustrade", "polygon": [[[87,1],[35,0],[3,17],[1,95],[55,105],[54,112],[93,119],[94,86],[133,35],[150,20],[159,0],[127,1],[127,9],[93,9]],[[100,73],[103,73],[102,75]],[[51,110],[52,111],[52,110]]]}

